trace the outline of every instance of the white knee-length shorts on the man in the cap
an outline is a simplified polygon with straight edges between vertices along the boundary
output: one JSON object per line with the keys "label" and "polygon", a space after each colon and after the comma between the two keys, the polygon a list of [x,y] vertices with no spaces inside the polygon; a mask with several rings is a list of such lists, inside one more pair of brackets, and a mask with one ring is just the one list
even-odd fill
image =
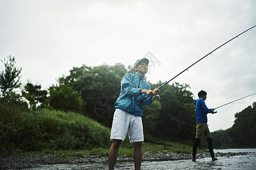
{"label": "white knee-length shorts on the man in the cap", "polygon": [[110,140],[125,141],[128,133],[130,143],[144,141],[142,117],[130,114],[122,109],[115,109]]}

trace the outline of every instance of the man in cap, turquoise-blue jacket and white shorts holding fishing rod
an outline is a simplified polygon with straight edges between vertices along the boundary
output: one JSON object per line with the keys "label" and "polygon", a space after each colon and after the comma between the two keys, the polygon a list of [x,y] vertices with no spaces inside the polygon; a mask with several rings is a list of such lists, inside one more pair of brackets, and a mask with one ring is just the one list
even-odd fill
{"label": "man in cap, turquoise-blue jacket and white shorts holding fishing rod", "polygon": [[[146,58],[138,59],[134,64],[136,73],[126,73],[121,80],[121,92],[115,102],[115,113],[110,135],[112,146],[109,150],[109,169],[114,169],[119,146],[125,140],[127,133],[130,143],[134,145],[135,169],[141,169],[142,141],[144,141],[143,105],[151,105],[152,97],[160,91],[158,88],[150,90],[150,84],[144,80],[148,62]],[[143,102],[140,102],[142,100]]]}

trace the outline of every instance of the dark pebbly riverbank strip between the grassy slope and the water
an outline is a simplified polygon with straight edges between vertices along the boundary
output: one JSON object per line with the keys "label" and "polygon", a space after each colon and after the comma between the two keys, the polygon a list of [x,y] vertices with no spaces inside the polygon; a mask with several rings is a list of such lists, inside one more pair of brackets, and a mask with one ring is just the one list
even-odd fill
{"label": "dark pebbly riverbank strip between the grassy slope and the water", "polygon": [[[246,155],[249,152],[216,152],[216,157],[229,158],[230,156]],[[197,159],[209,158],[209,152],[197,153]],[[145,152],[143,161],[166,161],[191,159],[191,154],[177,152]],[[118,156],[117,162],[132,162],[131,156]],[[0,169],[30,169],[40,167],[41,165],[56,164],[95,164],[107,163],[108,155],[65,155],[65,154],[43,154],[32,156],[11,156],[0,158]],[[192,162],[192,161],[191,161]]]}

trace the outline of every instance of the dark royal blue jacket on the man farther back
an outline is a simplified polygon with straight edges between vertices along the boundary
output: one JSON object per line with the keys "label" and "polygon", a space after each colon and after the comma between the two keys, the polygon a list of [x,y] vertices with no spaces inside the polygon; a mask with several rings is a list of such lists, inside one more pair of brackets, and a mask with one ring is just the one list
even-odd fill
{"label": "dark royal blue jacket on the man farther back", "polygon": [[194,104],[196,105],[196,124],[198,122],[205,122],[207,124],[207,114],[212,113],[212,109],[207,108],[202,98],[194,100]]}

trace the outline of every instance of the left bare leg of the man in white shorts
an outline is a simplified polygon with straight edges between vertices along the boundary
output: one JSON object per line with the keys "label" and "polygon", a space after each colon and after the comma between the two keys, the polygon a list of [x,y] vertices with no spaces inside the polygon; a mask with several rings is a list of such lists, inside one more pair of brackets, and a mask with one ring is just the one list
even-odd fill
{"label": "left bare leg of the man in white shorts", "polygon": [[118,149],[121,145],[121,140],[113,139],[109,150],[109,170],[113,170],[115,162],[117,162]]}

